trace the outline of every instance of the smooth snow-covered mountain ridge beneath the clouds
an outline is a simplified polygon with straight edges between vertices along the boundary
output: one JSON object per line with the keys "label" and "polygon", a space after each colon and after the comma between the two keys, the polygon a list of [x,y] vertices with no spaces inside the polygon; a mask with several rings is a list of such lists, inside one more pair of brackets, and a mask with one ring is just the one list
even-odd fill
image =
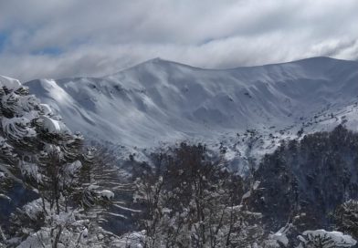
{"label": "smooth snow-covered mountain ridge beneath the clouds", "polygon": [[220,70],[155,58],[104,78],[26,85],[70,129],[124,146],[238,141],[256,129],[257,145],[265,151],[272,139],[259,138],[291,137],[302,128],[332,129],[342,122],[358,127],[358,62],[329,57]]}

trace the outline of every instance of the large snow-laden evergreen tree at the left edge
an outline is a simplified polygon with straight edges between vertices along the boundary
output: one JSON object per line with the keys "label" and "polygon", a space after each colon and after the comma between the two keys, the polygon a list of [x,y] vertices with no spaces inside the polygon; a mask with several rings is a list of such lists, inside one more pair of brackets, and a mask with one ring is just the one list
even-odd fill
{"label": "large snow-laden evergreen tree at the left edge", "polygon": [[96,167],[82,152],[82,136],[12,78],[0,77],[0,120],[0,181],[21,183],[39,197],[12,214],[6,232],[0,230],[3,242],[107,247],[113,235],[100,228],[99,212],[90,210],[114,195],[90,176],[80,177]]}

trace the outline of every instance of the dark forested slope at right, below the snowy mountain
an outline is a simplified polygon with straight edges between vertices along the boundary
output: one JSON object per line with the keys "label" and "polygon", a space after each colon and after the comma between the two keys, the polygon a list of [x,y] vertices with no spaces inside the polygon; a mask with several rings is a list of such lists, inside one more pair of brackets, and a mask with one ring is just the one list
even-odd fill
{"label": "dark forested slope at right, below the snowy mountain", "polygon": [[282,142],[263,158],[254,177],[262,191],[253,204],[267,222],[329,227],[339,204],[358,199],[358,134],[338,126]]}

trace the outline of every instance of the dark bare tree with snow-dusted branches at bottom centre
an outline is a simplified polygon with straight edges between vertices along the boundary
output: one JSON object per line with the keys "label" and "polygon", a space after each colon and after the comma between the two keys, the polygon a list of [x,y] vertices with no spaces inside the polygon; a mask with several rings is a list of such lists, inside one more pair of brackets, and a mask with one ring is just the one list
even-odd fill
{"label": "dark bare tree with snow-dusted branches at bottom centre", "polygon": [[242,204],[243,181],[205,146],[153,155],[136,181],[144,247],[245,247],[261,239],[261,215]]}

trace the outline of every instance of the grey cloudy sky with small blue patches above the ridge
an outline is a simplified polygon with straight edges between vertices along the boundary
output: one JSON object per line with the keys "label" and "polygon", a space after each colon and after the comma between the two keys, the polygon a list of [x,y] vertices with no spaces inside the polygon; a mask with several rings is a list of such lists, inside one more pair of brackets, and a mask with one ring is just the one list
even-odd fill
{"label": "grey cloudy sky with small blue patches above the ridge", "polygon": [[0,0],[0,74],[102,76],[153,57],[240,67],[358,58],[356,0]]}

